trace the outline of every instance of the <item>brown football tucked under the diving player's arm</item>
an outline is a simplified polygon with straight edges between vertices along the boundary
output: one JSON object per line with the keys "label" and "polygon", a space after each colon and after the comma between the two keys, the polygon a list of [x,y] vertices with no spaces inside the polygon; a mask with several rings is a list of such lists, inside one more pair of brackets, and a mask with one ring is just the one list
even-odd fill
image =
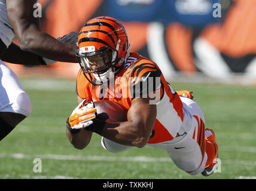
{"label": "brown football tucked under the diving player's arm", "polygon": [[127,121],[127,109],[115,101],[100,100],[94,102],[97,119],[107,122]]}

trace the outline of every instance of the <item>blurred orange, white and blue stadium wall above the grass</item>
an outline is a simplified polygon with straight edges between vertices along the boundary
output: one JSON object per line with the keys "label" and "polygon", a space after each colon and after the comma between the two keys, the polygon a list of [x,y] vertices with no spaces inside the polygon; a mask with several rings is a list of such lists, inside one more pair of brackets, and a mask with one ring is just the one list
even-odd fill
{"label": "blurred orange, white and blue stadium wall above the grass", "polygon": [[[256,1],[41,0],[40,3],[42,30],[55,38],[79,32],[93,17],[110,16],[124,24],[131,51],[159,64],[169,80],[182,76],[179,80],[255,83]],[[215,3],[220,7],[214,6]],[[68,78],[75,78],[79,69],[78,64],[71,63],[53,64],[47,67],[47,72],[43,66],[10,67],[20,76]]]}

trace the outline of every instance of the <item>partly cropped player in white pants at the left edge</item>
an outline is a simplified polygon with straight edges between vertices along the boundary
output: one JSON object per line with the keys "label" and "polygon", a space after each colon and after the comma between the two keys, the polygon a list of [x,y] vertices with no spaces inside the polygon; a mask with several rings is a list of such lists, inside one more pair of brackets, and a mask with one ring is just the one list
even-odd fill
{"label": "partly cropped player in white pants at the left edge", "polygon": [[[51,64],[55,60],[77,63],[77,33],[69,33],[58,41],[42,32],[39,17],[33,16],[36,2],[0,0],[0,141],[31,113],[28,94],[3,61],[27,65]],[[20,47],[12,42],[14,36]]]}

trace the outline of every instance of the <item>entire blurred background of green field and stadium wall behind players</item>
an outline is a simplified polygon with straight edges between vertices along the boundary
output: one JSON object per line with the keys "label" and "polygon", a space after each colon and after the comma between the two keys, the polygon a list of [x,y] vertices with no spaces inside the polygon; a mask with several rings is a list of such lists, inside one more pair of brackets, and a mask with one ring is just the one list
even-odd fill
{"label": "entire blurred background of green field and stadium wall behind players", "polygon": [[[32,114],[1,141],[0,178],[256,178],[256,0],[40,3],[42,30],[55,38],[79,32],[96,16],[120,20],[132,52],[155,61],[174,90],[193,91],[221,161],[217,173],[203,177],[179,170],[167,152],[150,146],[106,152],[97,134],[86,149],[74,149],[65,123],[77,107],[79,64],[8,64],[31,98]],[[33,170],[36,158],[41,172]]]}

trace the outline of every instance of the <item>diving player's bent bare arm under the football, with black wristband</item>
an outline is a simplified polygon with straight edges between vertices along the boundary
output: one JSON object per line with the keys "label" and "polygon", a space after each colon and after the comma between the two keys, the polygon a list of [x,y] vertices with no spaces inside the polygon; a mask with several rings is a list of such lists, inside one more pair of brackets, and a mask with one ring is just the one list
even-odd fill
{"label": "diving player's bent bare arm under the football, with black wristband", "polygon": [[156,121],[156,104],[148,98],[134,98],[126,122],[106,123],[102,136],[127,146],[144,147]]}

